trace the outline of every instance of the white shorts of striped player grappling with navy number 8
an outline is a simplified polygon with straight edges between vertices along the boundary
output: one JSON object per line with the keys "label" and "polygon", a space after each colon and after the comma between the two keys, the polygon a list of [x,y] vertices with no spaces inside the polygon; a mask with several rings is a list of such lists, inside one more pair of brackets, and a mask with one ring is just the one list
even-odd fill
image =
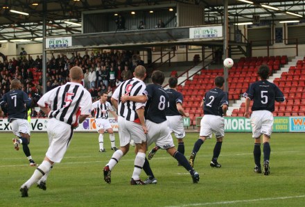
{"label": "white shorts of striped player grappling with navy number 8", "polygon": [[130,122],[123,117],[118,116],[118,125],[121,147],[129,144],[131,138],[136,144],[146,142],[146,134],[144,133],[141,124]]}

